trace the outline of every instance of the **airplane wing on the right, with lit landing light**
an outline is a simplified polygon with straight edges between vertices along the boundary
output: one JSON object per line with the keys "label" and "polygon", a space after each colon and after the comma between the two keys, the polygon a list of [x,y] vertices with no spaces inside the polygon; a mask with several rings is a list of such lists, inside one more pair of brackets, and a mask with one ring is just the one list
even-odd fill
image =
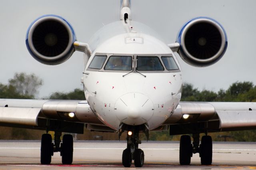
{"label": "airplane wing on the right, with lit landing light", "polygon": [[170,125],[170,134],[254,129],[256,103],[180,102],[164,125]]}

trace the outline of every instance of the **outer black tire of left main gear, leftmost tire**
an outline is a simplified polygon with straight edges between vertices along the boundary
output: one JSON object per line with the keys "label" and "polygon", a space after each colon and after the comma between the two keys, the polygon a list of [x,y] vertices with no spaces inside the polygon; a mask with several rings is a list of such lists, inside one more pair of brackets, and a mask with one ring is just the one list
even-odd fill
{"label": "outer black tire of left main gear, leftmost tire", "polygon": [[50,134],[42,134],[41,139],[41,164],[50,164],[53,155],[52,136]]}

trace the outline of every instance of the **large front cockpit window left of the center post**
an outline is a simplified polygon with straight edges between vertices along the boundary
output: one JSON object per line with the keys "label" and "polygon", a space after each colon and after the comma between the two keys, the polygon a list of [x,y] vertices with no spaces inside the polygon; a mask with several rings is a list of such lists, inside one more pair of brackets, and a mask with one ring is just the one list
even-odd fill
{"label": "large front cockpit window left of the center post", "polygon": [[132,57],[131,56],[110,56],[106,63],[105,70],[132,70]]}

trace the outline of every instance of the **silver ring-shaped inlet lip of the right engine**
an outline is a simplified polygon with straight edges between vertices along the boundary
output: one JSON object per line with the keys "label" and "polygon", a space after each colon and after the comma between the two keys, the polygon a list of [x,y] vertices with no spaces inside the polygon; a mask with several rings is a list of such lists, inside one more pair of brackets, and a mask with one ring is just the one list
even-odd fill
{"label": "silver ring-shaped inlet lip of the right engine", "polygon": [[[188,32],[188,30],[192,26],[194,26],[195,24],[198,24],[198,23],[208,23],[208,24],[213,25],[220,32],[220,36],[221,36],[221,39],[222,39],[220,49],[218,50],[218,52],[214,56],[212,56],[208,59],[198,59],[198,58],[194,57],[193,55],[191,55],[188,52],[188,49],[186,48],[186,45],[185,45],[185,35],[186,35],[186,33]],[[182,45],[182,49],[183,49],[184,54],[187,55],[188,58],[191,59],[192,61],[196,61],[198,63],[210,63],[210,62],[218,59],[218,57],[220,57],[222,55],[222,52],[224,51],[225,46],[226,46],[226,36],[225,36],[224,30],[222,29],[222,27],[217,22],[215,22],[213,20],[210,20],[208,18],[200,18],[200,19],[194,20],[194,21],[190,22],[188,25],[186,25],[186,27],[184,28],[184,30],[182,32],[182,35],[181,35],[181,45]]]}

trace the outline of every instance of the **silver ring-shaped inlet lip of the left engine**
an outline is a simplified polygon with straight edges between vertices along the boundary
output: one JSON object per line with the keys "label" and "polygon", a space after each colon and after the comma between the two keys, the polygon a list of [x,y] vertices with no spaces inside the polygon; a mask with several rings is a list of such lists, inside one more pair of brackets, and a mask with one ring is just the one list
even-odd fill
{"label": "silver ring-shaped inlet lip of the left engine", "polygon": [[[49,56],[45,56],[45,55],[40,54],[36,50],[36,48],[34,47],[34,44],[33,44],[32,36],[33,36],[34,30],[36,29],[36,27],[39,24],[41,24],[42,22],[45,22],[45,21],[59,22],[60,24],[62,24],[66,28],[66,30],[68,32],[68,36],[70,37],[66,49],[62,53],[60,53],[59,55],[54,56],[54,57],[49,57]],[[44,18],[40,18],[39,20],[34,22],[34,24],[31,26],[31,29],[28,32],[28,44],[29,44],[29,47],[30,47],[30,50],[32,51],[32,53],[34,53],[34,55],[36,55],[36,57],[38,57],[39,59],[41,59],[43,61],[56,61],[58,59],[62,59],[63,57],[65,57],[65,55],[70,51],[70,48],[73,45],[73,33],[72,33],[72,30],[71,30],[70,26],[63,19],[58,18],[56,16],[46,16]]]}

